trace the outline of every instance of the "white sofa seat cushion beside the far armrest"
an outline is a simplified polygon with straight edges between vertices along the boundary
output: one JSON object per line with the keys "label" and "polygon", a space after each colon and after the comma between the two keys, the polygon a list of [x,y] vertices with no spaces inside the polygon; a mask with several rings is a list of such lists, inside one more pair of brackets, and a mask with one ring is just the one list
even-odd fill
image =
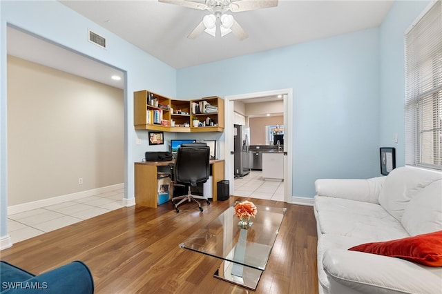
{"label": "white sofa seat cushion beside the far armrest", "polygon": [[410,236],[379,204],[315,196],[314,206],[320,233],[369,239],[370,242]]}

